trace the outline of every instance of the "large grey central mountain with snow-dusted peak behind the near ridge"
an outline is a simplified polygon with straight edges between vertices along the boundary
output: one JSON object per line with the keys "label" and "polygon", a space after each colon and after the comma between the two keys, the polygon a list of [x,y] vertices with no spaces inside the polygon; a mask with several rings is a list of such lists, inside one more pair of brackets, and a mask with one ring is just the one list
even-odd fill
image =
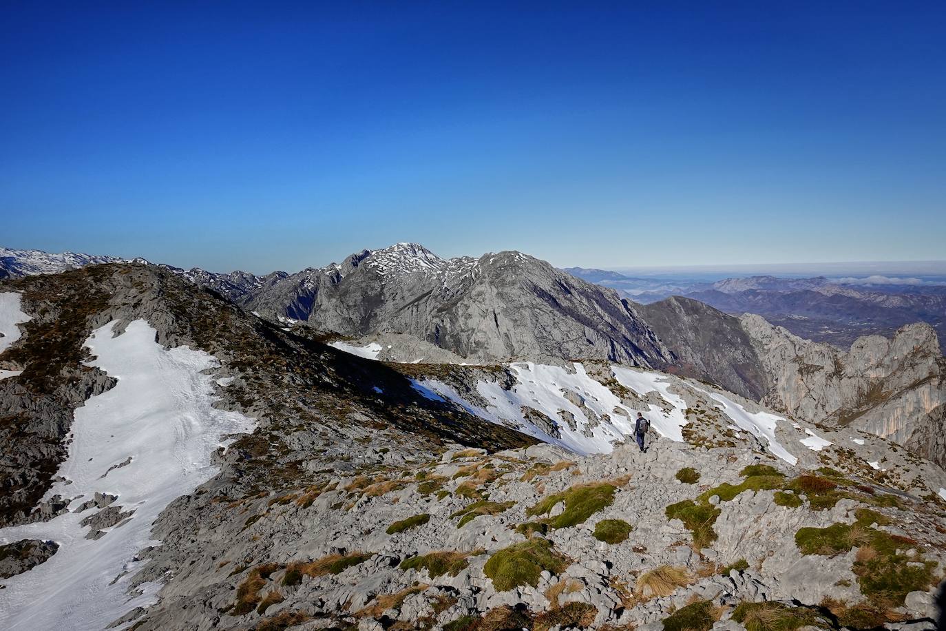
{"label": "large grey central mountain with snow-dusted peak behind the near ridge", "polygon": [[670,360],[615,291],[517,252],[444,260],[410,243],[366,250],[290,275],[247,306],[348,336],[411,335],[477,362]]}

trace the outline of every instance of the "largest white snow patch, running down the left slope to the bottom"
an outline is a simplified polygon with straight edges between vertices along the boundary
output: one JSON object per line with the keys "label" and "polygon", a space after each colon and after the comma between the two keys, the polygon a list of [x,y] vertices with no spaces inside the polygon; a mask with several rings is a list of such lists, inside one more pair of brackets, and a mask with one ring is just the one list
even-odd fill
{"label": "largest white snow patch, running down the left slope to the bottom", "polygon": [[86,345],[96,358],[91,365],[118,383],[76,410],[74,440],[58,471],[71,483],[57,482],[47,497],[73,498],[75,511],[96,492],[108,493],[118,498],[113,506],[133,515],[97,540],[85,538],[90,528],[79,523],[96,508],[0,530],[3,543],[60,544],[44,564],[3,581],[0,628],[102,629],[135,606],[154,603],[158,585],[126,593],[137,552],[160,544],[151,539],[152,523],[171,500],[217,473],[210,458],[221,437],[254,428],[251,419],[212,407],[213,380],[201,374],[216,365],[212,356],[186,346],[165,349],[143,320],[117,338],[113,325],[97,329]]}

